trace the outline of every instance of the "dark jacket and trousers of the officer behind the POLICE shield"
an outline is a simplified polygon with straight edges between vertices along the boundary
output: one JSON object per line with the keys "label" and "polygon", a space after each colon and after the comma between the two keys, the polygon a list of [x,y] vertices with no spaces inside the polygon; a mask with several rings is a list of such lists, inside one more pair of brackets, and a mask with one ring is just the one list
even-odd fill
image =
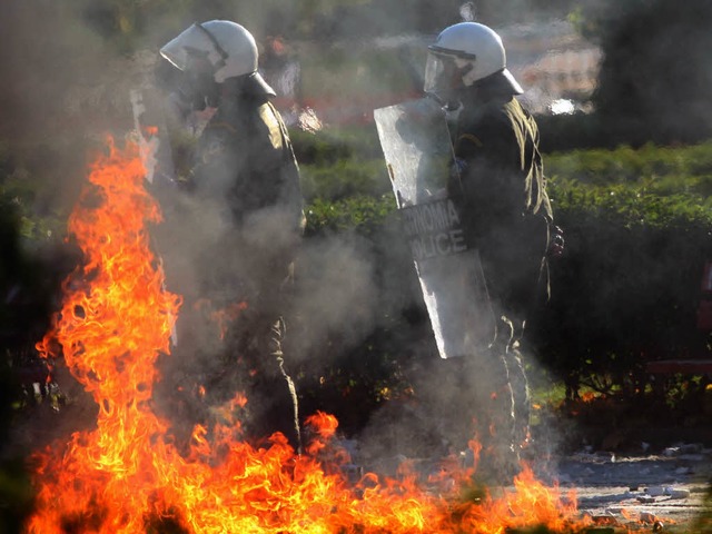
{"label": "dark jacket and trousers of the officer behind the POLICE shield", "polygon": [[[546,194],[538,129],[501,77],[466,89],[453,134],[455,161],[448,184],[457,200],[468,246],[479,251],[497,317],[497,337],[487,357],[465,358],[490,387],[471,392],[473,404],[488,406],[481,433],[492,468],[516,472],[528,437],[530,394],[517,349],[527,314],[548,295],[546,249],[553,220]],[[464,373],[468,375],[471,373]],[[504,454],[497,441],[508,443]]]}

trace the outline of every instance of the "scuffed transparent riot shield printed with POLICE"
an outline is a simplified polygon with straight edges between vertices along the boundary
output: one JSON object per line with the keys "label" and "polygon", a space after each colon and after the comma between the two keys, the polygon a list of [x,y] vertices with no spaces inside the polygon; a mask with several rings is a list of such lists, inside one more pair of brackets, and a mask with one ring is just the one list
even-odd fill
{"label": "scuffed transparent riot shield printed with POLICE", "polygon": [[472,356],[495,337],[479,254],[468,248],[446,186],[447,122],[429,98],[374,111],[393,192],[442,358]]}

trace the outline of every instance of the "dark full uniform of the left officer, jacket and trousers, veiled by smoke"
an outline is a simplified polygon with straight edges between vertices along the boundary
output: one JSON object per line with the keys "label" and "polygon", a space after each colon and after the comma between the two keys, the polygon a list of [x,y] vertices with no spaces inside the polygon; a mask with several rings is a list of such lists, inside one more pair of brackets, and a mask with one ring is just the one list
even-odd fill
{"label": "dark full uniform of the left officer, jacket and trousers, veiled by smoke", "polygon": [[234,312],[222,333],[228,370],[216,369],[211,389],[226,380],[233,393],[245,388],[248,433],[280,431],[298,446],[296,393],[281,342],[305,217],[291,142],[268,96],[222,97],[198,139],[186,187],[210,225],[197,297],[210,300],[212,319],[216,309]]}

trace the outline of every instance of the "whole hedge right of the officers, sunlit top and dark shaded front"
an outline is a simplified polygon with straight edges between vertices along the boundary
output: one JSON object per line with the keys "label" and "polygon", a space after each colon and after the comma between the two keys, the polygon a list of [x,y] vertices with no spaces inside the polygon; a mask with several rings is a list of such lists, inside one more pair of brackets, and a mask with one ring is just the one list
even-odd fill
{"label": "whole hedge right of the officers, sunlit top and dark shaded front", "polygon": [[712,144],[546,158],[566,253],[552,267],[538,352],[576,388],[643,394],[651,359],[699,355],[699,284],[712,258]]}

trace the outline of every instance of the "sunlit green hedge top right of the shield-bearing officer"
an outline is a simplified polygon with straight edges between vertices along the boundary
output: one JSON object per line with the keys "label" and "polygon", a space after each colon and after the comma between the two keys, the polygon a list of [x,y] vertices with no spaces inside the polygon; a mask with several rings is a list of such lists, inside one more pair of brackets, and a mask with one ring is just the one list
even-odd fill
{"label": "sunlit green hedge top right of the shield-bearing officer", "polygon": [[624,228],[712,226],[712,142],[574,150],[550,155],[546,168],[557,210]]}

